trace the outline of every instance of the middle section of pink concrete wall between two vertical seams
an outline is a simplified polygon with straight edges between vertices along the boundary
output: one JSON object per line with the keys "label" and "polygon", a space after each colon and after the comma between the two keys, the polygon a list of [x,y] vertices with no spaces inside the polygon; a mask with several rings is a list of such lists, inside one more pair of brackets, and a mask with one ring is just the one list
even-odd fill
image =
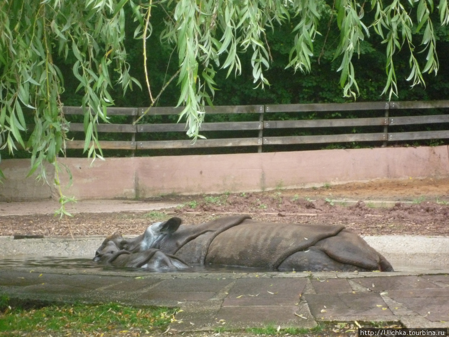
{"label": "middle section of pink concrete wall between two vertical seams", "polygon": [[134,160],[140,197],[259,190],[261,186],[263,156],[258,153]]}

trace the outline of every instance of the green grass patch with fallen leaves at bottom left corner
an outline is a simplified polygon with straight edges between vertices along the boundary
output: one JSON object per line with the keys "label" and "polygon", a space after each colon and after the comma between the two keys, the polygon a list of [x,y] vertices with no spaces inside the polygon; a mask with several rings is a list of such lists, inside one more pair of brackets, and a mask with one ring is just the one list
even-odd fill
{"label": "green grass patch with fallen leaves at bottom left corner", "polygon": [[2,336],[24,333],[107,333],[139,329],[143,332],[164,331],[175,320],[176,309],[136,308],[116,303],[86,305],[64,304],[25,308],[11,307],[0,300],[0,332]]}

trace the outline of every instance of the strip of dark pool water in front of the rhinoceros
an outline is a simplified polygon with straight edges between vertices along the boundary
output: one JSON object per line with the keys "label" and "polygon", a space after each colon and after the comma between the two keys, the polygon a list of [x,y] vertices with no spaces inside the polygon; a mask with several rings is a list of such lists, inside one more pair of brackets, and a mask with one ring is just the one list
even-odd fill
{"label": "strip of dark pool water in front of the rhinoceros", "polygon": [[[93,262],[92,259],[86,259],[85,257],[8,257],[0,258],[0,268],[5,267],[20,267],[20,268],[35,268],[35,267],[45,267],[45,268],[57,268],[57,269],[75,269],[75,270],[99,270],[99,271],[131,271],[131,272],[142,272],[142,268],[118,268],[114,266],[102,265],[98,262]],[[152,269],[145,269],[148,272],[157,272]],[[187,270],[174,270],[176,272],[197,272],[197,273],[260,273],[266,272],[266,270],[261,270],[258,268],[244,268],[244,267],[227,267],[227,266],[193,266],[192,269]],[[169,271],[170,272],[170,271]]]}

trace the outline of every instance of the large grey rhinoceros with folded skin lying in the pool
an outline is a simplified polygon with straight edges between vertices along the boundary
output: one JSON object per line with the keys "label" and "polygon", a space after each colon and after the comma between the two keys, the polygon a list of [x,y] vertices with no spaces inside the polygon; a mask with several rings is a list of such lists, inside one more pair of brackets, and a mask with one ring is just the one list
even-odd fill
{"label": "large grey rhinoceros with folded skin lying in the pool", "polygon": [[[249,216],[180,225],[180,218],[171,218],[148,226],[133,239],[114,234],[97,250],[94,261],[154,269],[160,268],[157,260],[161,259],[162,267],[176,269],[211,264],[269,270],[393,271],[381,254],[343,226],[267,223]],[[156,261],[147,261],[150,254]]]}

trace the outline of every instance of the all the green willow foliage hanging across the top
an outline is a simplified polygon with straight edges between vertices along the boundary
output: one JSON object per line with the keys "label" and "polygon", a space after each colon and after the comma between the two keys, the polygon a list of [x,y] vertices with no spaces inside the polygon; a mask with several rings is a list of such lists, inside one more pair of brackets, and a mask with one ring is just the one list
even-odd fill
{"label": "all the green willow foliage hanging across the top", "polygon": [[[386,84],[382,94],[397,95],[394,56],[401,49],[410,53],[411,85],[425,84],[423,73],[437,73],[434,24],[449,23],[447,0],[3,0],[0,3],[0,146],[13,153],[18,146],[31,152],[31,172],[44,161],[55,164],[64,152],[66,120],[60,94],[64,78],[53,62],[59,55],[73,60],[73,73],[83,93],[84,151],[101,157],[96,123],[107,121],[106,108],[114,104],[109,91],[120,85],[124,91],[141,86],[129,75],[126,62],[125,8],[136,24],[134,38],[142,39],[146,86],[152,105],[151,74],[146,69],[146,42],[152,33],[151,10],[166,11],[166,28],[161,43],[171,43],[179,60],[178,105],[184,106],[188,134],[199,137],[204,106],[212,104],[219,70],[227,75],[241,72],[239,53],[251,53],[255,87],[269,85],[264,70],[270,66],[266,30],[286,24],[297,16],[292,27],[294,46],[286,67],[310,72],[313,42],[323,9],[335,10],[340,41],[335,60],[341,62],[340,85],[344,96],[358,95],[352,64],[361,42],[370,33],[378,34],[385,45]],[[438,8],[439,15],[432,16]],[[371,21],[365,11],[370,10]],[[432,19],[438,22],[433,22]],[[290,24],[290,23],[288,23]],[[420,32],[418,35],[416,33]],[[421,41],[413,37],[422,36]],[[129,37],[128,37],[129,38]],[[416,45],[419,45],[418,47]],[[416,54],[426,53],[425,64]],[[113,76],[112,72],[115,72]],[[172,79],[175,76],[172,77]],[[112,81],[112,78],[118,80]],[[31,111],[31,112],[28,112]],[[26,125],[25,113],[32,113],[34,124]],[[28,139],[25,130],[32,128]],[[45,178],[45,172],[41,175]],[[0,178],[2,173],[0,171]],[[57,182],[56,182],[57,183]],[[64,199],[61,199],[63,201]]]}

